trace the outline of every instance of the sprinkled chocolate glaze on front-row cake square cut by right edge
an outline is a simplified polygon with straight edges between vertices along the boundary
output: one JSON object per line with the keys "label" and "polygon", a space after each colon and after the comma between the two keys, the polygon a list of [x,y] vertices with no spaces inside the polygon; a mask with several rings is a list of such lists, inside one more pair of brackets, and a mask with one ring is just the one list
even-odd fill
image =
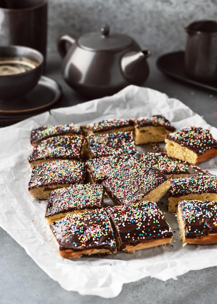
{"label": "sprinkled chocolate glaze on front-row cake square cut by right edge", "polygon": [[217,202],[179,202],[184,221],[185,237],[195,238],[217,233]]}

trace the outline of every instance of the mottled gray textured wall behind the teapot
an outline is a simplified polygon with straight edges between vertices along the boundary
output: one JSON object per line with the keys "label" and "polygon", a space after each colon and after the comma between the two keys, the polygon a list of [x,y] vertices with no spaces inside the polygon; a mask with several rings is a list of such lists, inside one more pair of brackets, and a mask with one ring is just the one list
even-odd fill
{"label": "mottled gray textured wall behind the teapot", "polygon": [[184,27],[217,18],[217,0],[49,0],[48,51],[62,34],[110,30],[132,36],[153,56],[184,50]]}

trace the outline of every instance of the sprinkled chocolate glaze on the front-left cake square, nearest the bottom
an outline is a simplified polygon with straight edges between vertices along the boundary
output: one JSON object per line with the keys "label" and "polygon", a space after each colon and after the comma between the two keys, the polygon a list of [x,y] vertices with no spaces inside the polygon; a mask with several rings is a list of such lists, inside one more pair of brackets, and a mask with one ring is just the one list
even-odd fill
{"label": "sprinkled chocolate glaze on the front-left cake square, nearest the bottom", "polygon": [[107,249],[116,252],[116,240],[105,210],[68,214],[50,224],[60,250]]}

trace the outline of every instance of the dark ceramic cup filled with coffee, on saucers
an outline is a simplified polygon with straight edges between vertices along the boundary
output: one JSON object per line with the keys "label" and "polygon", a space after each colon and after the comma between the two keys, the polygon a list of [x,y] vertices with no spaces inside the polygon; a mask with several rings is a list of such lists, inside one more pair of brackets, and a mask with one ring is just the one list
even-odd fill
{"label": "dark ceramic cup filled with coffee, on saucers", "polygon": [[0,47],[0,102],[20,100],[38,83],[43,55],[23,46]]}

